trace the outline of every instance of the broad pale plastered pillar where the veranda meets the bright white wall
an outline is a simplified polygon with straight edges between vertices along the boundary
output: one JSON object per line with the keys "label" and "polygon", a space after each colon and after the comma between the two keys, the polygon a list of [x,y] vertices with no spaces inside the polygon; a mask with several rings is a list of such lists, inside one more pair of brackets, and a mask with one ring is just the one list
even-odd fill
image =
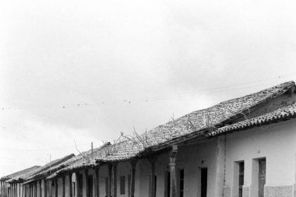
{"label": "broad pale plastered pillar where the veranda meets the bright white wall", "polygon": [[218,136],[216,141],[216,179],[215,196],[223,196],[223,186],[225,178],[226,159],[226,137]]}

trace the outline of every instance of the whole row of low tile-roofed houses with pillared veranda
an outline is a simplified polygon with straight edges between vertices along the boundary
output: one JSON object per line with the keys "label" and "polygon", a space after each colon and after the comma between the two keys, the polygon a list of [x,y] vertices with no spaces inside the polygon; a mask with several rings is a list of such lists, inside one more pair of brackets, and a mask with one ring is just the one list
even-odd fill
{"label": "whole row of low tile-roofed houses with pillared veranda", "polygon": [[1,177],[0,197],[296,196],[295,82]]}

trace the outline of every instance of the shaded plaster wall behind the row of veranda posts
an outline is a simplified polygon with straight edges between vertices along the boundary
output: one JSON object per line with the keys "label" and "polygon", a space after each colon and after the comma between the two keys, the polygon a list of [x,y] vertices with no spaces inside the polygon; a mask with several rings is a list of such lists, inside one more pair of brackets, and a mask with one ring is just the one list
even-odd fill
{"label": "shaded plaster wall behind the row of veranda posts", "polygon": [[[184,196],[200,196],[200,169],[208,168],[208,196],[214,197],[214,183],[216,179],[216,139],[210,139],[202,144],[179,146],[176,158],[176,170],[184,169]],[[135,196],[148,197],[149,195],[149,175],[151,165],[147,159],[138,160],[135,174]],[[168,171],[168,153],[162,153],[156,160],[155,175],[156,196],[164,197],[165,194],[165,173]],[[86,197],[85,171],[83,174],[83,197]],[[88,174],[93,174],[93,192],[95,191],[95,172],[89,170]],[[131,174],[129,162],[118,163],[117,166],[117,196],[128,197],[128,174]],[[125,176],[125,194],[120,193],[120,177]],[[99,195],[106,196],[105,178],[109,177],[108,165],[99,168]],[[178,177],[178,174],[177,174]],[[73,173],[75,181],[75,173]],[[66,196],[68,194],[68,179],[66,179]],[[178,185],[178,183],[177,183]],[[62,195],[62,182],[58,179],[58,196]],[[76,184],[77,188],[77,184]],[[77,196],[77,191],[75,192]],[[95,193],[93,193],[95,195]]]}

